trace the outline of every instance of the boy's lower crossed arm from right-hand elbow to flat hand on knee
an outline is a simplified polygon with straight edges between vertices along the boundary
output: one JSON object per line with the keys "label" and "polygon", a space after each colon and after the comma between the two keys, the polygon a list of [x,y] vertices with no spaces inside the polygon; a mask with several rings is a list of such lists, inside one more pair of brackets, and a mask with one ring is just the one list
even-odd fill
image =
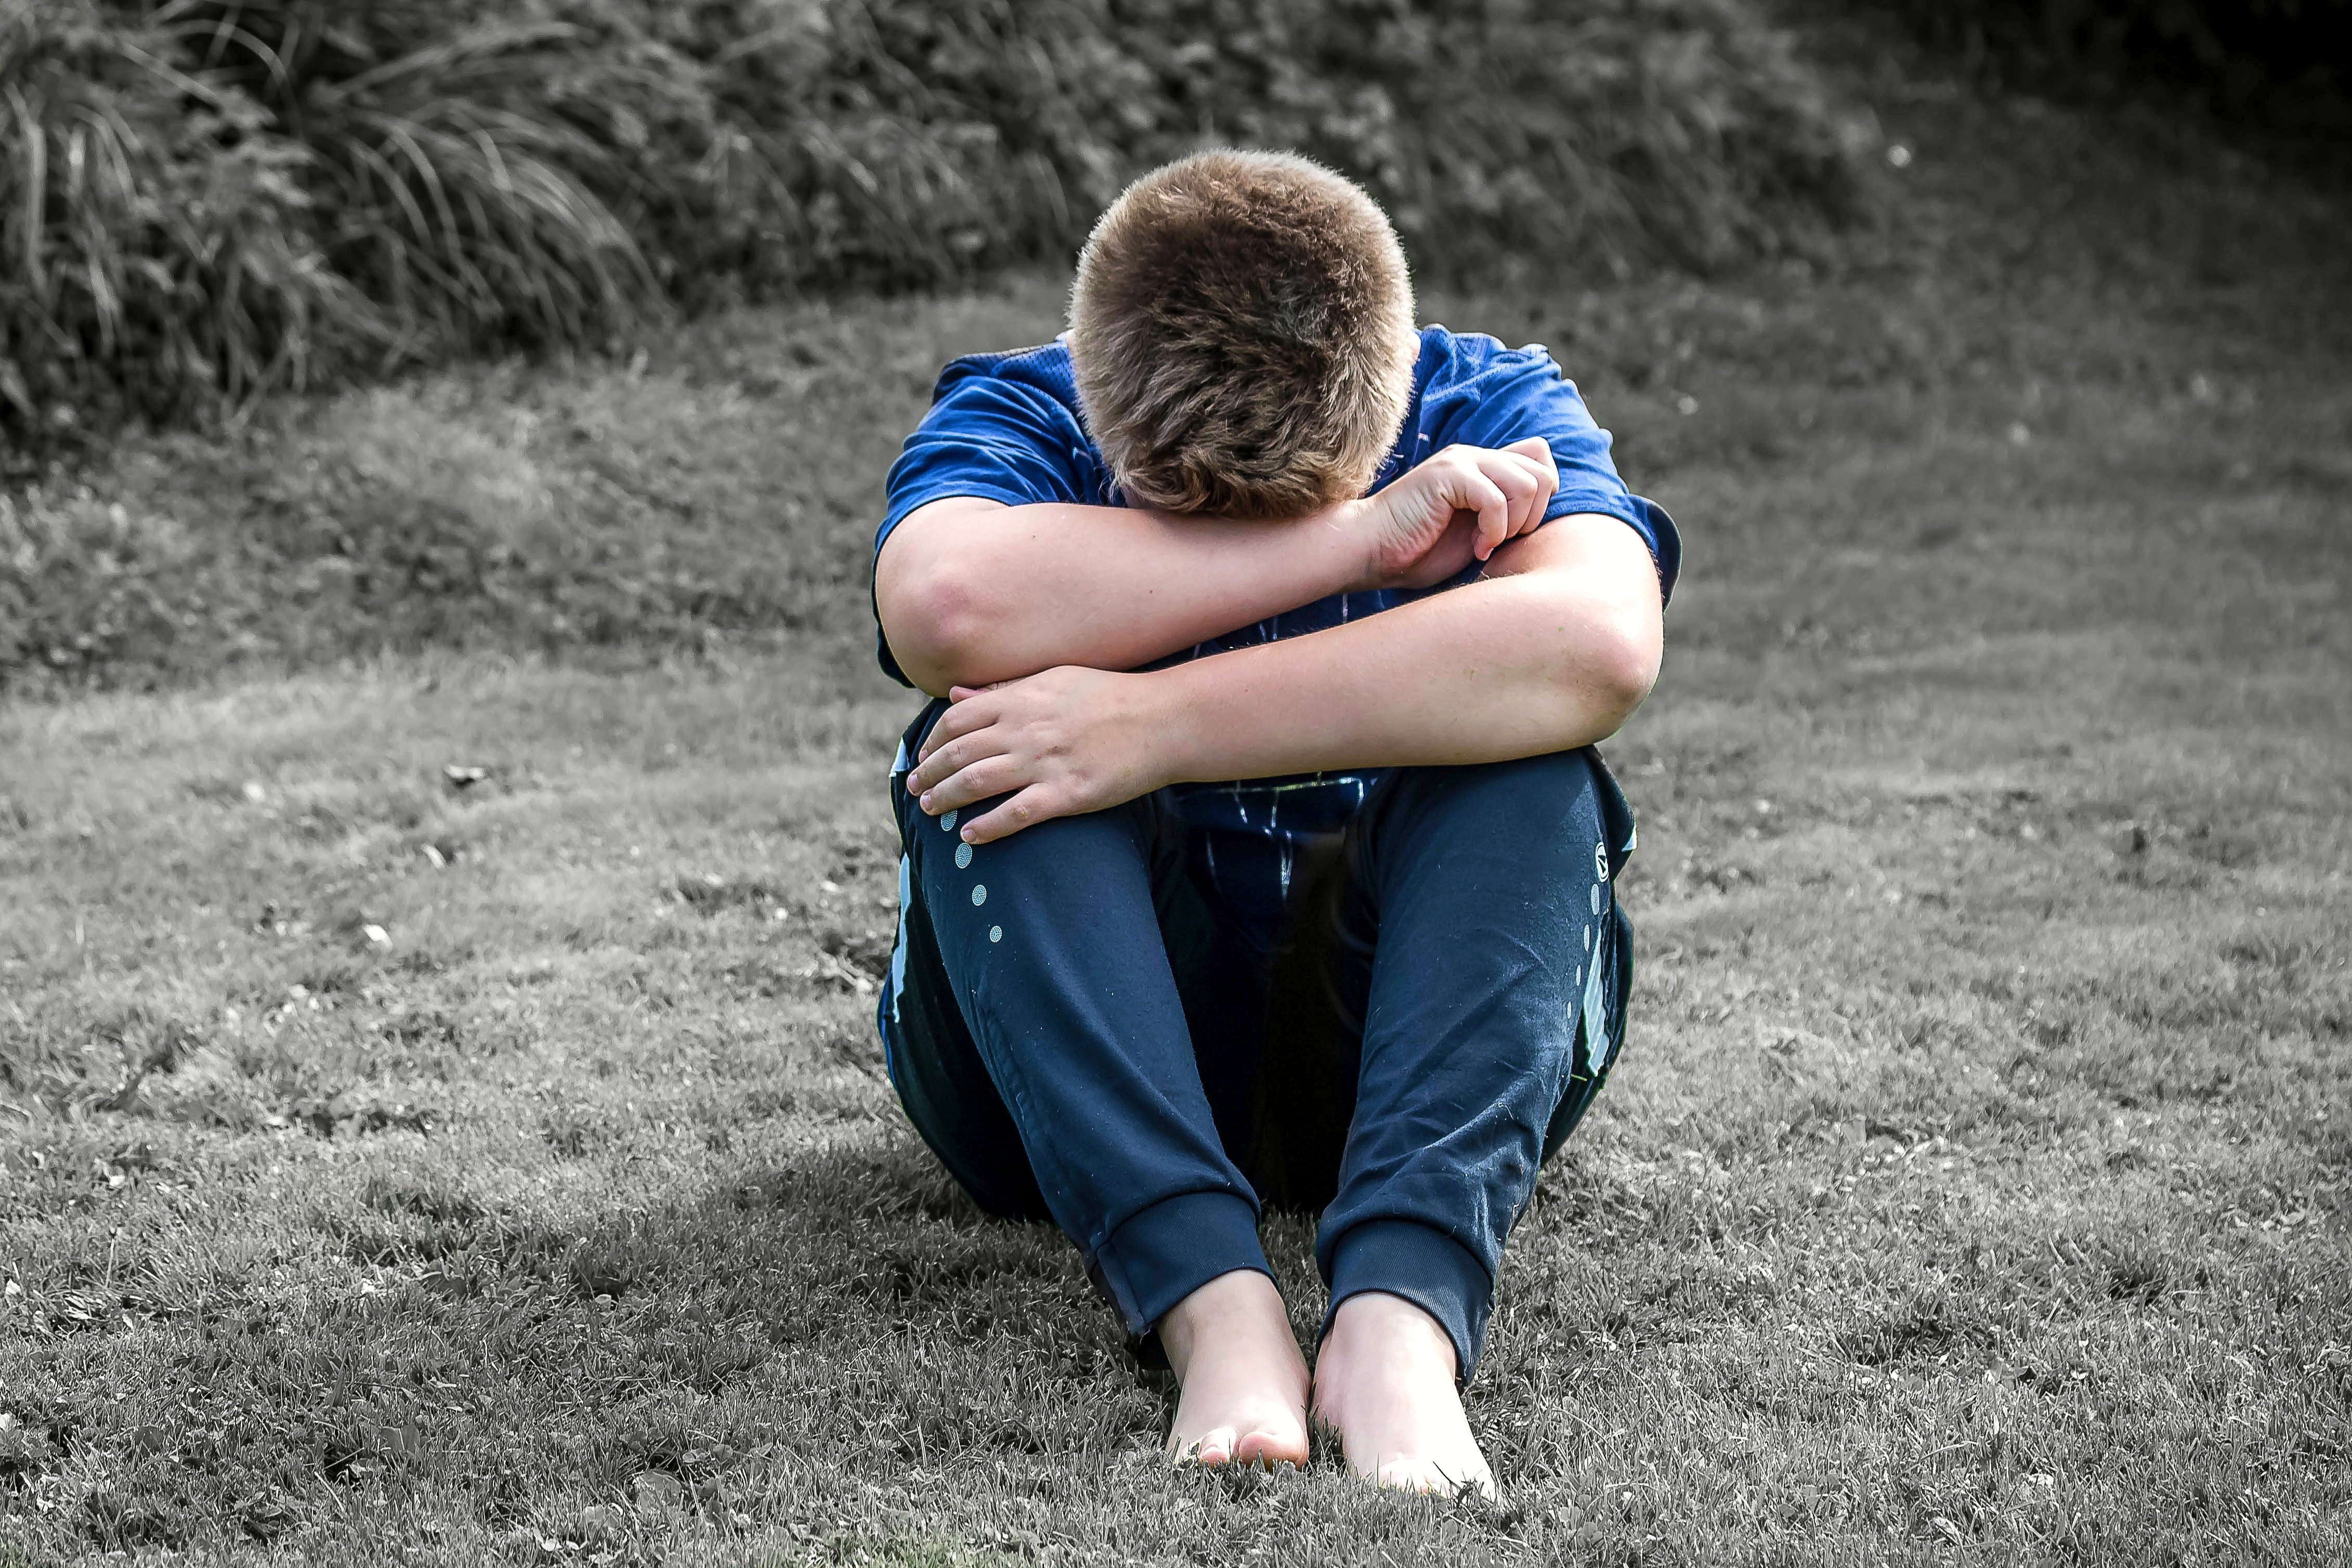
{"label": "boy's lower crossed arm from right-hand elbow to flat hand on knee", "polygon": [[1573,750],[1616,733],[1661,651],[1649,548],[1578,512],[1496,550],[1479,581],[1367,621],[1143,675],[957,691],[908,788],[934,816],[1014,795],[962,827],[983,844],[1181,780]]}

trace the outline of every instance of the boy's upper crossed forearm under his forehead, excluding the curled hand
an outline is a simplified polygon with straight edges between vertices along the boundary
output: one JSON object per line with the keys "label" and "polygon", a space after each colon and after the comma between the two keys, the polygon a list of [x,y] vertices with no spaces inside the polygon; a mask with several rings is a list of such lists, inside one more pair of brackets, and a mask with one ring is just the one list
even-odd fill
{"label": "boy's upper crossed forearm under his forehead, excluding the curled hand", "polygon": [[1054,665],[1134,670],[1357,588],[1364,569],[1341,512],[1232,522],[960,498],[889,536],[875,607],[898,665],[946,696]]}

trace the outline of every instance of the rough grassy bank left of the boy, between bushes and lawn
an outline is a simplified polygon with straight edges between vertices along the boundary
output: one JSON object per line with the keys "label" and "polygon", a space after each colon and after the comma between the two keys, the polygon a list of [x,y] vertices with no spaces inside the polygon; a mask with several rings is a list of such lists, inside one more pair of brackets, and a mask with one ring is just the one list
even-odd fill
{"label": "rough grassy bank left of the boy, between bushes and lawn", "polygon": [[[437,649],[774,651],[866,616],[842,543],[920,409],[938,331],[884,310],[734,317],[694,364],[452,371],[127,440],[103,484],[0,498],[0,686],[186,682]],[[880,362],[851,339],[880,329]],[[809,451],[835,461],[811,470]],[[14,545],[14,548],[12,548]],[[14,611],[14,614],[9,614]]]}

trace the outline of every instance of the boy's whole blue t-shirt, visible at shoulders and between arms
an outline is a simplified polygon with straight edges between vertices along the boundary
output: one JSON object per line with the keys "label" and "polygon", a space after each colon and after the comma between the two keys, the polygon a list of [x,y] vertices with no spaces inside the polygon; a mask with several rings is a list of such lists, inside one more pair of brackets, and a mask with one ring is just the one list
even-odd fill
{"label": "boy's whole blue t-shirt, visible at shoulders and between arms", "polygon": [[[1609,461],[1609,433],[1592,423],[1576,383],[1541,346],[1503,348],[1477,331],[1423,327],[1404,428],[1371,489],[1381,489],[1444,447],[1508,447],[1529,435],[1550,442],[1552,463],[1559,468],[1559,489],[1543,512],[1545,522],[1571,512],[1621,517],[1649,545],[1661,592],[1672,595],[1682,569],[1682,536],[1675,531],[1675,520],[1665,508],[1625,489]],[[1040,348],[967,355],[948,364],[931,393],[931,411],[906,437],[898,461],[891,463],[887,491],[875,555],[901,517],[948,496],[981,496],[1007,505],[1037,501],[1122,505],[1103,454],[1087,435],[1070,348],[1058,339]],[[1472,564],[1463,578],[1477,571]],[[1211,637],[1167,663],[1319,632],[1343,621],[1376,616],[1423,592],[1444,588],[1338,592]],[[880,621],[875,644],[882,670],[901,684],[913,684],[891,658]],[[1240,905],[1240,914],[1263,917],[1263,929],[1270,931],[1279,905],[1289,900],[1298,839],[1338,830],[1364,804],[1367,790],[1378,778],[1378,771],[1247,778],[1176,785],[1176,795],[1188,825],[1207,837],[1200,849],[1209,875]],[[1232,870],[1223,870],[1221,860]],[[1251,870],[1244,872],[1244,865]]]}

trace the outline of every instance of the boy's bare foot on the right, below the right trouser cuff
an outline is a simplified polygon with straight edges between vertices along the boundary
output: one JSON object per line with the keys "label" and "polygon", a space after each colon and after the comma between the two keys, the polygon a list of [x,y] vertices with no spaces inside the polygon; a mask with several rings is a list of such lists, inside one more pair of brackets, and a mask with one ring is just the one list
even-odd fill
{"label": "boy's bare foot on the right, below the right trouser cuff", "polygon": [[1402,1295],[1364,1291],[1338,1305],[1315,1356],[1315,1420],[1378,1486],[1498,1497],[1454,1389],[1454,1340]]}

